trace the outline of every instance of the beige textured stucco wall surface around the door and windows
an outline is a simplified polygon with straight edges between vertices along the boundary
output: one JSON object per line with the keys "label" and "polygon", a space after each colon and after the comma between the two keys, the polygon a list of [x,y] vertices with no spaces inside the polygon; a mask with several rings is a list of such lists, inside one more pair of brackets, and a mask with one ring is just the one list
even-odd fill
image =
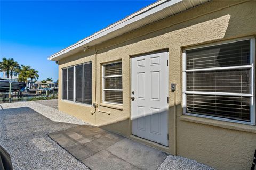
{"label": "beige textured stucco wall surface around the door and windows", "polygon": [[[181,52],[189,46],[255,36],[255,8],[256,1],[212,1],[60,60],[60,84],[63,67],[92,61],[92,100],[99,104],[98,109],[111,114],[97,111],[92,115],[93,107],[62,101],[61,93],[59,109],[93,125],[217,169],[249,169],[256,149],[256,126],[182,115]],[[171,83],[177,84],[175,92],[169,90],[169,147],[131,135],[130,57],[161,49],[169,50],[169,87]],[[123,63],[123,106],[102,106],[101,64],[115,60]]]}

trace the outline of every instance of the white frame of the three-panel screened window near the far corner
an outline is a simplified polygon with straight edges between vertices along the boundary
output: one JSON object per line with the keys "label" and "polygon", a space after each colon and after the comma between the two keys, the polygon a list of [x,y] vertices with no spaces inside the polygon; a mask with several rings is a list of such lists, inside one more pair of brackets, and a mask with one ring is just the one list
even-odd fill
{"label": "white frame of the three-panel screened window near the far corner", "polygon": [[[92,61],[61,68],[61,77],[62,77],[62,82],[61,82],[61,100],[68,101],[68,102],[75,103],[75,104],[82,104],[82,105],[92,106],[92,104],[83,103],[83,101],[84,101],[84,65],[85,64],[92,64]],[[82,102],[76,101],[76,66],[79,66],[79,65],[83,66],[83,74],[82,74]],[[67,79],[68,79],[68,69],[71,68],[71,67],[73,67],[73,101],[68,100],[68,81],[67,81],[67,99],[63,99],[62,98],[62,84],[63,84],[63,74],[62,74],[62,71],[63,71],[63,69],[67,69]]]}

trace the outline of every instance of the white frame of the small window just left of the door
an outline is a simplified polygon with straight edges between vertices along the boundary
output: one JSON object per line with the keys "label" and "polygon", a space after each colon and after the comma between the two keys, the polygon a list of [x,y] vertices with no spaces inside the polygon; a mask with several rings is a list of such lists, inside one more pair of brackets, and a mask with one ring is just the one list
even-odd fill
{"label": "white frame of the small window just left of the door", "polygon": [[[102,102],[107,104],[114,104],[114,105],[123,105],[123,99],[122,104],[121,103],[115,103],[110,101],[105,101],[105,91],[122,91],[123,93],[123,64],[122,64],[122,74],[120,75],[107,75],[105,76],[105,65],[107,64],[114,64],[114,63],[122,63],[122,61],[114,61],[114,62],[108,62],[102,64]],[[122,89],[105,89],[105,78],[113,78],[113,77],[122,77]],[[122,95],[123,97],[123,95]]]}

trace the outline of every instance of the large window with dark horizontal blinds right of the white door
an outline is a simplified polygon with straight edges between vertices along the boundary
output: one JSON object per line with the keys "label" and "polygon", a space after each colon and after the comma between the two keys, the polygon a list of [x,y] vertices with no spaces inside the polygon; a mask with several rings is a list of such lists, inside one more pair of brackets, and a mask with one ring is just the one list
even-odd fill
{"label": "large window with dark horizontal blinds right of the white door", "polygon": [[255,39],[248,39],[186,50],[183,53],[185,114],[255,124],[254,47]]}

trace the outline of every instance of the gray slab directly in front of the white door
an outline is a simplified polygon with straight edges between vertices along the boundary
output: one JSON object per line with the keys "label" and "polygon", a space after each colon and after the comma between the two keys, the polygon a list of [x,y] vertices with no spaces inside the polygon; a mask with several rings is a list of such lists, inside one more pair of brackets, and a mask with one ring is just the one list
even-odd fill
{"label": "gray slab directly in front of the white door", "polygon": [[130,139],[122,139],[106,148],[111,154],[140,169],[157,169],[167,154]]}

